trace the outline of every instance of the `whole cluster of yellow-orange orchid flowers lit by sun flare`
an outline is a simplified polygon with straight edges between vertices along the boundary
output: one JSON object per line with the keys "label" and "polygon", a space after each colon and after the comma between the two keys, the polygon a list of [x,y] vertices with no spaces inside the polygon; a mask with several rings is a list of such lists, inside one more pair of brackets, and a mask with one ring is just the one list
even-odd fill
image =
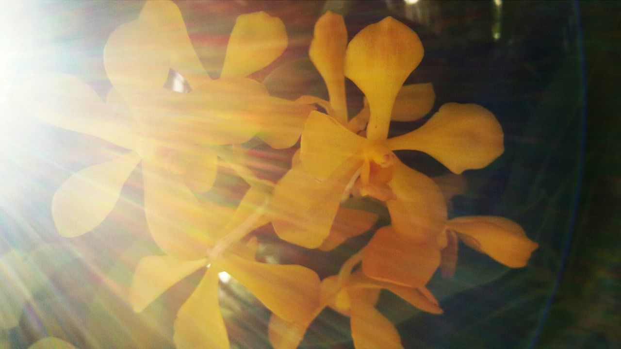
{"label": "whole cluster of yellow-orange orchid flowers lit by sun flare", "polygon": [[[329,101],[289,101],[270,96],[247,77],[287,47],[280,19],[265,12],[239,16],[220,78],[211,79],[178,7],[147,1],[138,19],[120,25],[107,40],[104,65],[113,88],[106,101],[70,75],[48,74],[20,88],[25,109],[40,120],[124,149],[73,174],[58,189],[52,214],[61,235],[76,237],[101,224],[130,174],[142,168],[143,209],[163,254],[138,263],[127,292],[136,312],[205,270],[178,311],[178,348],[230,347],[219,307],[223,271],[271,310],[274,348],[296,348],[326,307],[351,318],[356,348],[401,348],[396,328],[376,309],[381,289],[440,314],[425,285],[438,268],[453,273],[458,240],[512,268],[525,266],[537,248],[509,219],[448,219],[447,198],[436,181],[394,154],[425,152],[455,174],[483,168],[504,151],[494,115],[475,104],[448,103],[418,129],[388,138],[391,120],[419,120],[433,107],[431,84],[403,86],[422,60],[422,44],[391,17],[368,25],[349,43],[347,38],[342,16],[320,17],[309,56]],[[171,74],[183,77],[184,88],[171,88]],[[345,78],[365,95],[354,117]],[[291,170],[276,183],[261,179],[248,167],[250,140],[274,149],[299,145]],[[214,189],[222,168],[248,184],[233,204],[201,196]],[[249,237],[266,224],[288,243],[324,251],[368,232],[378,214],[348,207],[350,197],[383,203],[391,223],[376,230],[338,274],[321,280],[305,266],[256,259],[260,242]]]}

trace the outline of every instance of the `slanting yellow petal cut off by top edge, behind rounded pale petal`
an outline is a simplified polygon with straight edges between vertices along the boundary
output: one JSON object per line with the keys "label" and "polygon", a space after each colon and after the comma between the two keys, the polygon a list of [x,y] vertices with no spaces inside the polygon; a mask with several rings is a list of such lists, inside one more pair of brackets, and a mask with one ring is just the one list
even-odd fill
{"label": "slanting yellow petal cut off by top edge, behind rounded pale petal", "polygon": [[147,1],[140,20],[153,24],[168,48],[170,68],[178,71],[193,88],[209,79],[188,36],[179,7],[170,0]]}

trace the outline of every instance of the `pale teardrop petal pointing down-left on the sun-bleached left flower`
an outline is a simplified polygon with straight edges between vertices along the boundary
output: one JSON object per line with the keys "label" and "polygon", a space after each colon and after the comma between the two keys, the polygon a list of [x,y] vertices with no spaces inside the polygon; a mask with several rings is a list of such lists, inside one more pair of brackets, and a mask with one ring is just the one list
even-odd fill
{"label": "pale teardrop petal pointing down-left on the sun-bleached left flower", "polygon": [[52,216],[60,235],[76,237],[101,224],[139,162],[140,157],[130,152],[67,179],[52,198]]}

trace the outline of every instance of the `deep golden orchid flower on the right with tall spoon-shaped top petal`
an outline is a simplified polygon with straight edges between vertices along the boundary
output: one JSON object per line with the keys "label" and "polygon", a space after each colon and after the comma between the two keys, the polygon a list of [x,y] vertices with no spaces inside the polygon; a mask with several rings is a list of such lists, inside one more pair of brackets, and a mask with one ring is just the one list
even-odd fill
{"label": "deep golden orchid flower on the right with tall spoon-shaped top petal", "polygon": [[[326,32],[341,38],[335,40],[338,47],[325,48],[330,42],[322,38],[331,37]],[[446,240],[441,234],[446,203],[432,179],[408,168],[392,151],[426,152],[449,170],[461,173],[482,168],[501,155],[502,129],[481,106],[448,103],[419,129],[387,139],[393,109],[401,119],[402,112],[408,110],[401,107],[408,96],[429,97],[402,89],[422,60],[420,40],[391,17],[368,25],[347,48],[343,48],[343,33],[342,18],[325,14],[315,26],[311,58],[324,76],[330,104],[344,103],[343,89],[338,87],[344,76],[365,94],[369,112],[366,137],[357,134],[351,120],[345,124],[347,115],[338,115],[340,107],[333,108],[335,117],[311,112],[302,132],[301,164],[292,168],[275,190],[272,206],[279,216],[274,227],[289,242],[318,247],[329,235],[343,193],[354,183],[360,194],[386,202],[392,220],[392,227],[379,230],[365,249],[363,271],[381,281],[424,286],[440,264],[440,247]],[[419,112],[428,111],[430,104],[419,103],[423,104],[426,106]],[[415,105],[410,104],[409,109]],[[412,251],[418,252],[415,257]],[[405,261],[417,263],[412,267]]]}

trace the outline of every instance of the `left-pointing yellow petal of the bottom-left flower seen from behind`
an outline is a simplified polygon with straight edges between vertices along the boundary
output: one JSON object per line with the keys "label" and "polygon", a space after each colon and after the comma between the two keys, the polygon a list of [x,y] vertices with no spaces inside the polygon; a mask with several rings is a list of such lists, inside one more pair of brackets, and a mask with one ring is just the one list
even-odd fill
{"label": "left-pointing yellow petal of the bottom-left flower seen from behind", "polygon": [[167,289],[206,263],[206,259],[188,261],[171,256],[143,257],[138,262],[129,289],[132,308],[135,312],[141,312]]}

